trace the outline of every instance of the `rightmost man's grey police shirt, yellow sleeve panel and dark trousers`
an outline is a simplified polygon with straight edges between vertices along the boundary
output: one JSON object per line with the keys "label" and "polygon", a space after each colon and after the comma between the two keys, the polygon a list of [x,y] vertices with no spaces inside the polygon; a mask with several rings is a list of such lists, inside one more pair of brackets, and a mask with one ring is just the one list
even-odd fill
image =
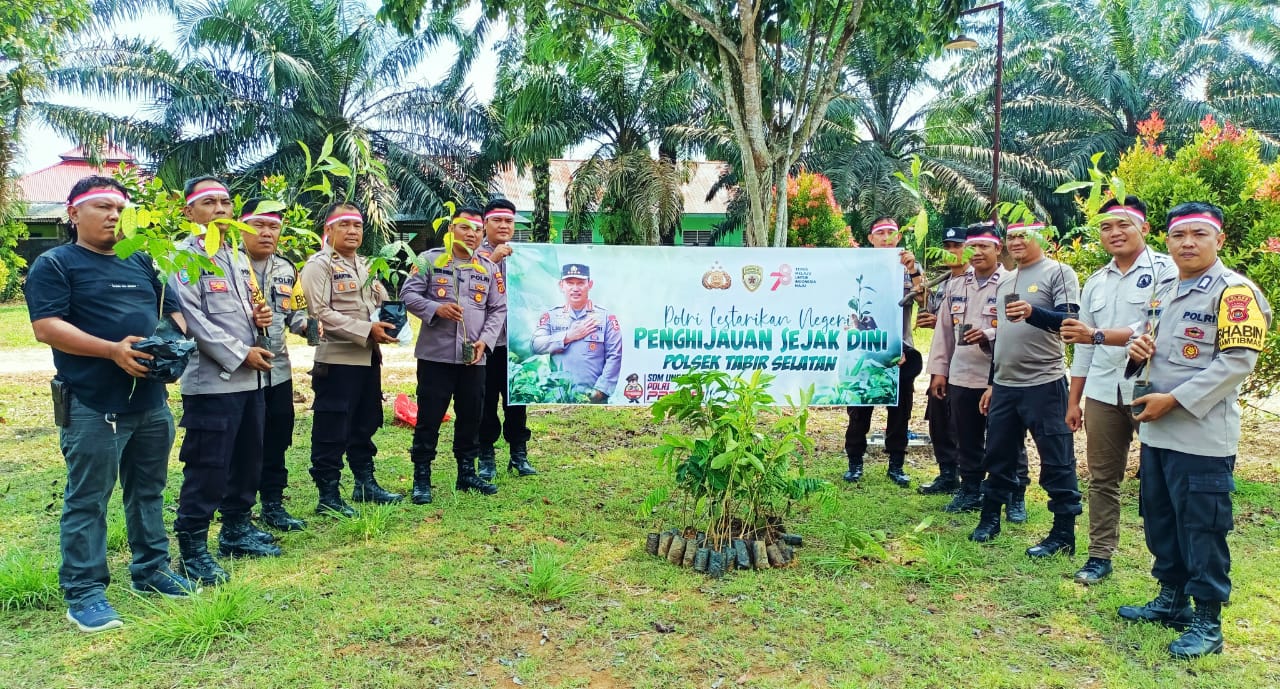
{"label": "rightmost man's grey police shirt, yellow sleeve panel and dark trousers", "polygon": [[1160,300],[1153,392],[1178,406],[1142,424],[1139,511],[1158,581],[1199,602],[1231,593],[1231,475],[1240,439],[1240,384],[1271,327],[1262,292],[1222,261]]}

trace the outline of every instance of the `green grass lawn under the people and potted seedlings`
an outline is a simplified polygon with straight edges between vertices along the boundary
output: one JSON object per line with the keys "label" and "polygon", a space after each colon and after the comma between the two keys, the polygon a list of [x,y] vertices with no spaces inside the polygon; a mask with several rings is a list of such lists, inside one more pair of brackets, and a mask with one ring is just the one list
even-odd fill
{"label": "green grass lawn under the people and potted seedlings", "polygon": [[[412,371],[387,375],[389,398],[412,392]],[[0,379],[9,416],[0,425],[0,553],[26,551],[51,572],[64,466],[41,378]],[[305,382],[298,388],[310,393]],[[646,531],[682,524],[675,496],[637,514],[664,484],[650,455],[660,429],[643,410],[535,407],[530,451],[540,473],[500,474],[493,497],[452,489],[445,424],[435,502],[358,505],[362,516],[349,523],[312,514],[310,419],[300,406],[287,490],[308,528],[282,534],[282,557],[224,561],[230,587],[156,601],[128,593],[128,548],[111,549],[108,597],[125,628],[79,634],[56,594],[51,607],[5,611],[0,688],[488,688],[515,686],[513,677],[549,688],[1280,686],[1280,485],[1266,442],[1280,430],[1274,420],[1249,425],[1257,441],[1239,460],[1226,653],[1187,663],[1164,651],[1175,633],[1115,616],[1155,593],[1132,479],[1116,572],[1082,588],[1071,574],[1083,552],[1048,562],[1023,555],[1051,524],[1039,489],[1028,496],[1028,524],[1006,525],[989,546],[970,543],[977,515],[947,515],[946,496],[897,488],[881,455],[868,457],[860,485],[840,483],[844,412],[820,410],[809,471],[840,484],[829,505],[787,515],[805,540],[796,563],[712,580],[644,552]],[[392,425],[375,438],[389,490],[411,487],[410,438]],[[498,452],[502,460],[506,448]],[[180,469],[175,448],[170,496]],[[908,470],[928,480],[932,456],[913,448]],[[1082,551],[1084,531],[1082,523]],[[576,585],[553,599],[570,579]],[[535,580],[552,593],[536,593]]]}

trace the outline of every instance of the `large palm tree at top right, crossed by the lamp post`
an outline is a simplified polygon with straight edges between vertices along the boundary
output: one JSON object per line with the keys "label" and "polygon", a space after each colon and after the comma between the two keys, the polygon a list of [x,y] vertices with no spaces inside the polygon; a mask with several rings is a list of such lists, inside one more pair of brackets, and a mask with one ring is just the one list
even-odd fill
{"label": "large palm tree at top right, crossed by the lamp post", "polygon": [[[1055,197],[1052,184],[1020,175],[1019,158],[1042,168],[1083,178],[1089,159],[1105,154],[1105,165],[1133,146],[1138,123],[1158,111],[1169,122],[1174,145],[1189,140],[1206,114],[1236,119],[1257,97],[1275,102],[1271,79],[1256,78],[1262,63],[1251,33],[1271,24],[1263,10],[1243,4],[1179,0],[1048,0],[1010,4],[1005,23],[1005,120],[1002,170],[1010,183],[1033,190],[1056,214],[1070,215],[1070,200]],[[989,36],[993,26],[983,31]],[[941,146],[989,156],[993,61],[989,53],[963,58],[954,85],[932,105],[931,132]],[[1245,92],[1245,88],[1263,91]],[[1270,122],[1253,124],[1276,131]],[[1005,182],[1002,175],[1002,183]]]}

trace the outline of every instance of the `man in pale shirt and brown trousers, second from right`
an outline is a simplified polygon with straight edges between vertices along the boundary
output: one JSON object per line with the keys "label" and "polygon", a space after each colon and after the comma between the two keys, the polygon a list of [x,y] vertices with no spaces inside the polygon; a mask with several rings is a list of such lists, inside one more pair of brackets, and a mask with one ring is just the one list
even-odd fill
{"label": "man in pale shirt and brown trousers, second from right", "polygon": [[[1124,378],[1125,344],[1142,333],[1147,309],[1176,269],[1169,256],[1151,251],[1147,206],[1135,196],[1102,205],[1098,237],[1111,261],[1084,280],[1080,318],[1062,321],[1062,341],[1075,344],[1066,425],[1084,426],[1089,466],[1089,558],[1075,581],[1096,584],[1111,574],[1120,544],[1120,482],[1129,441],[1138,423],[1129,411],[1133,382]],[[1082,398],[1088,397],[1088,423]]]}

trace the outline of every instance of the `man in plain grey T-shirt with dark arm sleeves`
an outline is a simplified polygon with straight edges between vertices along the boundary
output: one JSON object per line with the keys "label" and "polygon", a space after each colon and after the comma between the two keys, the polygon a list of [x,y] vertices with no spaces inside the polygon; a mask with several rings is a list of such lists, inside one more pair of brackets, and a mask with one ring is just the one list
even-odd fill
{"label": "man in plain grey T-shirt with dark arm sleeves", "polygon": [[1066,366],[1057,330],[1079,312],[1079,282],[1070,266],[1044,255],[1041,223],[1009,227],[1009,254],[1018,261],[996,288],[998,337],[992,355],[992,387],[979,407],[987,414],[987,483],[982,517],[969,534],[984,543],[1000,533],[1000,507],[1019,488],[1023,438],[1030,432],[1039,450],[1039,483],[1048,493],[1053,528],[1027,549],[1030,557],[1075,553],[1075,517],[1082,512],[1071,429],[1066,425]]}

